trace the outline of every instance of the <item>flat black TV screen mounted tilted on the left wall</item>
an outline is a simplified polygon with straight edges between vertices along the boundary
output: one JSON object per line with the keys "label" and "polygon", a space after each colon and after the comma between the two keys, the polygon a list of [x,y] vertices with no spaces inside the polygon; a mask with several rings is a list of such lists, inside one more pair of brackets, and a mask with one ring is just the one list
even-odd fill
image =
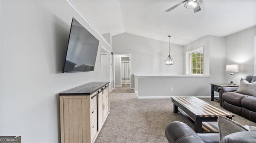
{"label": "flat black TV screen mounted tilted on the left wall", "polygon": [[94,71],[98,47],[99,40],[73,18],[62,72]]}

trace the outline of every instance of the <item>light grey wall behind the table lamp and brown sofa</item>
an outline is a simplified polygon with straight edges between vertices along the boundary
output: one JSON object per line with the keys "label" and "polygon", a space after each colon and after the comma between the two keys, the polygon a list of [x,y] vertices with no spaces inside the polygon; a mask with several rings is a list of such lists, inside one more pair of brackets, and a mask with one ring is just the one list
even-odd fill
{"label": "light grey wall behind the table lamp and brown sofa", "polygon": [[[239,72],[234,72],[233,81],[254,74],[254,37],[256,27],[252,27],[226,37],[226,64],[238,64]],[[230,82],[230,73],[226,72],[226,82]]]}

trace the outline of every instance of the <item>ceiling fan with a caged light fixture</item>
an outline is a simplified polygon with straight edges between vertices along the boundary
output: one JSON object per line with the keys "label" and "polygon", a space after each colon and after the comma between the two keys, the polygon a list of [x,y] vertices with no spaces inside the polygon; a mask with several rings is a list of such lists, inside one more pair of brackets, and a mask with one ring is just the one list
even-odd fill
{"label": "ceiling fan with a caged light fixture", "polygon": [[187,10],[188,9],[194,9],[194,12],[196,13],[196,12],[199,12],[201,10],[201,8],[200,8],[201,2],[202,2],[202,0],[184,0],[184,1],[176,4],[175,6],[169,8],[165,12],[170,12],[174,8],[177,8],[181,4],[185,3],[184,7],[187,8]]}

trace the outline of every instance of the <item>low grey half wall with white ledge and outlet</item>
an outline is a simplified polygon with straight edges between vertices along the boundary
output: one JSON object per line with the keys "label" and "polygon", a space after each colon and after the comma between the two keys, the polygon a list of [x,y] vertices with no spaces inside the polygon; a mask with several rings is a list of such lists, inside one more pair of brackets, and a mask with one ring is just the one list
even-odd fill
{"label": "low grey half wall with white ledge and outlet", "polygon": [[[138,98],[210,97],[210,76],[138,76]],[[173,88],[173,91],[171,91]]]}

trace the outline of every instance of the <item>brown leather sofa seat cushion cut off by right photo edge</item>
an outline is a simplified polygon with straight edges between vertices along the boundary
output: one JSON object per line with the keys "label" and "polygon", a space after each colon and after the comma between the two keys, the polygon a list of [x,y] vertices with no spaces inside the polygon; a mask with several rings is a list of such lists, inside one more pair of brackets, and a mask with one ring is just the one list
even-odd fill
{"label": "brown leather sofa seat cushion cut off by right photo edge", "polygon": [[248,96],[241,100],[241,106],[253,112],[256,112],[256,97]]}

